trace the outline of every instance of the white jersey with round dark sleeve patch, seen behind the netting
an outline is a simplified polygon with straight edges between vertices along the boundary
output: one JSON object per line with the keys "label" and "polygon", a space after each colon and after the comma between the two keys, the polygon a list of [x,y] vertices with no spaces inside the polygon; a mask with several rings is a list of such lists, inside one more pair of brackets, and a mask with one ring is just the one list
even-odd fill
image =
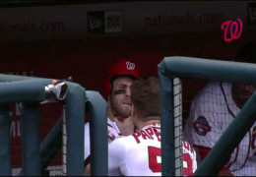
{"label": "white jersey with round dark sleeve patch, seen behind the netting", "polygon": [[[194,98],[184,137],[192,145],[213,148],[240,109],[231,95],[231,84],[210,83]],[[256,124],[234,149],[226,167],[234,175],[256,175]]]}

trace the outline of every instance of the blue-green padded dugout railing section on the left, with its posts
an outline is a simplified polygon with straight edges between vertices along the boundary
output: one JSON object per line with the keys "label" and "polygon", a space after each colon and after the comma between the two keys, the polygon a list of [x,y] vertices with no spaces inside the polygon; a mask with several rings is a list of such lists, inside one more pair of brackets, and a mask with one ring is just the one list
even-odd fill
{"label": "blue-green padded dugout railing section on the left, with its posts", "polygon": [[[66,175],[83,176],[84,166],[84,126],[86,109],[91,119],[92,174],[107,174],[107,128],[106,102],[96,91],[85,90],[80,85],[65,81],[68,86],[64,100],[67,131]],[[22,175],[39,176],[41,168],[58,148],[45,152],[52,147],[52,141],[60,135],[62,119],[40,145],[39,141],[39,103],[47,99],[45,86],[52,79],[0,75],[0,175],[11,176],[11,136],[9,103],[21,102],[22,116]],[[100,141],[96,141],[100,140]],[[99,152],[100,151],[100,152]]]}

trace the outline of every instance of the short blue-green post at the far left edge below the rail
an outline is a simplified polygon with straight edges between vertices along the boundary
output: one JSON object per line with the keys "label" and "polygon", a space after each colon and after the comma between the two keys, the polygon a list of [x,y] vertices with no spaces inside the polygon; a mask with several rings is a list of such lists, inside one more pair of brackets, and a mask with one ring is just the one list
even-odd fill
{"label": "short blue-green post at the far left edge below the rail", "polygon": [[9,104],[0,104],[0,176],[11,176],[11,119]]}

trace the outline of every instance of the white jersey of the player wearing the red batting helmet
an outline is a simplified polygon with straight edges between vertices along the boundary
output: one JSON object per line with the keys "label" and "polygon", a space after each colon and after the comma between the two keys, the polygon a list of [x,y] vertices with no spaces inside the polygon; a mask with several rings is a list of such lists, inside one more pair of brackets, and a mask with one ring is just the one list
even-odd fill
{"label": "white jersey of the player wearing the red batting helmet", "polygon": [[[112,122],[107,118],[107,136],[112,141],[120,137],[120,131],[115,122]],[[90,150],[90,124],[89,122],[85,125],[85,159],[91,154]]]}

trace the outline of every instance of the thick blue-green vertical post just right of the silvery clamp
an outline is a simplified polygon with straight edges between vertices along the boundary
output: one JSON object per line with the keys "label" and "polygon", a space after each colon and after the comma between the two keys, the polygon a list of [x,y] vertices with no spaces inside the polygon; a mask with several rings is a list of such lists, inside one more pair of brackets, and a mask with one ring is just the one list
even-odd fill
{"label": "thick blue-green vertical post just right of the silvery clamp", "polygon": [[68,83],[65,98],[65,117],[67,125],[67,175],[83,176],[84,128],[85,128],[85,89],[78,84]]}

